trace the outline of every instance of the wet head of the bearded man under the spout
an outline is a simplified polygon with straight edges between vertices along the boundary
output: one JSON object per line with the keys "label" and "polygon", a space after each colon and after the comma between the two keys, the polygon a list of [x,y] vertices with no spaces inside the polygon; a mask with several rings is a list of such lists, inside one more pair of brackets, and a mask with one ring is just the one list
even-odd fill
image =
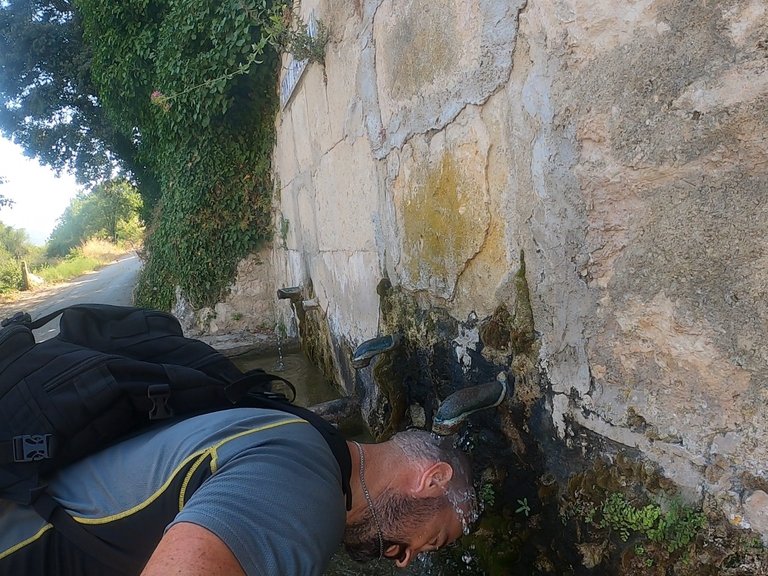
{"label": "wet head of the bearded man under the spout", "polygon": [[344,543],[354,559],[378,558],[376,520],[384,556],[400,567],[421,552],[455,541],[474,522],[477,511],[469,459],[448,440],[409,430],[376,445],[374,454],[376,461],[366,462],[381,487],[371,491],[376,518],[367,509],[347,525]]}

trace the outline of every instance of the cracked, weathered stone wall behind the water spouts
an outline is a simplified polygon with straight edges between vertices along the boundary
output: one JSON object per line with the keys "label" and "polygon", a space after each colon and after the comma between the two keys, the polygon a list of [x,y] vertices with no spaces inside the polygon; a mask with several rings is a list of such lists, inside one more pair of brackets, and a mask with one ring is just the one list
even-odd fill
{"label": "cracked, weathered stone wall behind the water spouts", "polygon": [[279,115],[272,260],[339,381],[382,278],[470,325],[514,305],[523,253],[560,436],[638,447],[768,533],[765,2],[300,11],[331,42]]}

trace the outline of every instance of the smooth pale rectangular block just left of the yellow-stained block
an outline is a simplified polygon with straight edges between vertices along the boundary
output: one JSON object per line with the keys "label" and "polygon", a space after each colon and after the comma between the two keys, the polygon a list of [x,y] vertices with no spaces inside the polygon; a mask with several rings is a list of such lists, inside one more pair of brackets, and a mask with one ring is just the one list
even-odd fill
{"label": "smooth pale rectangular block just left of the yellow-stained block", "polygon": [[363,139],[343,140],[321,158],[314,178],[321,251],[376,250],[376,174],[370,146]]}

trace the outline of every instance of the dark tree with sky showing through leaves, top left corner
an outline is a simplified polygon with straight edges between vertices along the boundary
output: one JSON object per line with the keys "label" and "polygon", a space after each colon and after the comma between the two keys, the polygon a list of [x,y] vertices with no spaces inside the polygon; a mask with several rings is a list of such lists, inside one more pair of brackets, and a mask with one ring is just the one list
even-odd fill
{"label": "dark tree with sky showing through leaves, top left corner", "polygon": [[115,126],[91,81],[90,47],[68,0],[0,1],[0,133],[81,184],[123,174],[158,195],[131,133]]}

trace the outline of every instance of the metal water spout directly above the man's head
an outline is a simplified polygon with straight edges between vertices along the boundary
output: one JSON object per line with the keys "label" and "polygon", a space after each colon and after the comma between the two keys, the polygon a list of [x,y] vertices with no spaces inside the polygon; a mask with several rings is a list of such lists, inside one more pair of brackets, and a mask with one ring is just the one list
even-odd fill
{"label": "metal water spout directly above the man's head", "polygon": [[437,409],[432,432],[441,436],[453,434],[470,414],[498,406],[508,393],[509,383],[504,372],[500,372],[496,380],[457,390]]}

